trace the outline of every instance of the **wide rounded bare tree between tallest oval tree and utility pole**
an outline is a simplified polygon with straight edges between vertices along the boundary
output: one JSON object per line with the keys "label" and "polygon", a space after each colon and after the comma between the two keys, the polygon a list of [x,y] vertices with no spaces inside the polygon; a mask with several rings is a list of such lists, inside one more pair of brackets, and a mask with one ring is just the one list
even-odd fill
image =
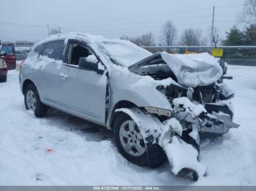
{"label": "wide rounded bare tree between tallest oval tree and utility pole", "polygon": [[207,39],[203,37],[202,31],[199,29],[186,29],[181,35],[181,44],[187,46],[204,46]]}

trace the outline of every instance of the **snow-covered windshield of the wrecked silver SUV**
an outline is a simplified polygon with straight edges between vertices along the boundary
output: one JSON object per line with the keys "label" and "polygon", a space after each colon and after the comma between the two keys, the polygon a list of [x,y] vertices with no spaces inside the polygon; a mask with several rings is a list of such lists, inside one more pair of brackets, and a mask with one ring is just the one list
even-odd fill
{"label": "snow-covered windshield of the wrecked silver SUV", "polygon": [[102,42],[102,48],[114,63],[121,66],[131,66],[151,55],[151,52],[124,40]]}

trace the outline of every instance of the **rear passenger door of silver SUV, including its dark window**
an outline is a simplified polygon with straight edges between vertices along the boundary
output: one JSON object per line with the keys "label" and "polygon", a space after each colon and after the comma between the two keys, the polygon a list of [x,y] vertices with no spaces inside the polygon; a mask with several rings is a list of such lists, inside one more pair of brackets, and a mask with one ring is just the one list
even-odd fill
{"label": "rear passenger door of silver SUV, including its dark window", "polygon": [[44,44],[35,66],[42,102],[59,109],[62,109],[60,100],[64,93],[64,80],[61,74],[66,73],[66,68],[62,64],[64,47],[64,40]]}

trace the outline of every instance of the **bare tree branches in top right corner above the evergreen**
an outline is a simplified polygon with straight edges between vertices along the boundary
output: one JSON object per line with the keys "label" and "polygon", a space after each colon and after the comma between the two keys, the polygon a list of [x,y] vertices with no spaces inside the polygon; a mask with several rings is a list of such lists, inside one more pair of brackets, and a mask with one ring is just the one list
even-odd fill
{"label": "bare tree branches in top right corner above the evergreen", "polygon": [[238,15],[242,23],[252,24],[256,22],[256,0],[246,0],[243,11]]}

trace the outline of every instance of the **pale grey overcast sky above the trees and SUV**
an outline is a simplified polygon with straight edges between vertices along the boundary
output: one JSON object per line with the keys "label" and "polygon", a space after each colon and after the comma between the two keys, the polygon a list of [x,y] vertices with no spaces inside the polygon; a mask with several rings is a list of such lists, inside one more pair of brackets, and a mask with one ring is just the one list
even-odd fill
{"label": "pale grey overcast sky above the trees and SUV", "polygon": [[[212,7],[222,36],[238,23],[244,0],[0,0],[0,39],[32,40],[61,32],[83,31],[118,38],[151,31],[159,39],[162,24],[172,20],[178,34],[200,28],[209,36]],[[178,36],[178,37],[179,37]]]}

